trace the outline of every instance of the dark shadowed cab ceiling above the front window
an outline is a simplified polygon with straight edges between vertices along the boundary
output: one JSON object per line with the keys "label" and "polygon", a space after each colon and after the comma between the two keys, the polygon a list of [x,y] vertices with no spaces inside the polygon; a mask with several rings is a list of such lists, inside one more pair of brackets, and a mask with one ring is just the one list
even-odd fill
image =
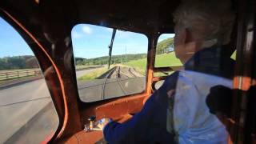
{"label": "dark shadowed cab ceiling above the front window", "polygon": [[[172,33],[174,0],[6,0],[2,8],[24,14],[29,22],[62,22],[71,28],[79,23],[94,24],[143,34]],[[1,6],[0,5],[0,6]],[[62,24],[59,23],[59,24]]]}

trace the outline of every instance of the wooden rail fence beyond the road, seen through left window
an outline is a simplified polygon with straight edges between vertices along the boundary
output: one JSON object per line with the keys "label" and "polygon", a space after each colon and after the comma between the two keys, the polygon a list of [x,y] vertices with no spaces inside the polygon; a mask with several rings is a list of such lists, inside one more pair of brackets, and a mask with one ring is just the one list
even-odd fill
{"label": "wooden rail fence beyond the road, seen through left window", "polygon": [[14,78],[23,78],[29,76],[38,76],[41,75],[42,72],[39,69],[32,69],[32,70],[4,70],[0,71],[0,81],[1,80],[8,80]]}

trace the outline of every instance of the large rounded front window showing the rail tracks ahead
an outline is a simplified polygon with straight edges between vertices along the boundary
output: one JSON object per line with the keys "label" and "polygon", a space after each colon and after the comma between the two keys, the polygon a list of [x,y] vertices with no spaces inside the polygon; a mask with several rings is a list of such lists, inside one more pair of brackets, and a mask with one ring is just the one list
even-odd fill
{"label": "large rounded front window showing the rail tracks ahead", "polygon": [[145,35],[122,30],[116,30],[114,34],[110,28],[81,24],[72,30],[72,43],[82,102],[145,90],[148,45]]}

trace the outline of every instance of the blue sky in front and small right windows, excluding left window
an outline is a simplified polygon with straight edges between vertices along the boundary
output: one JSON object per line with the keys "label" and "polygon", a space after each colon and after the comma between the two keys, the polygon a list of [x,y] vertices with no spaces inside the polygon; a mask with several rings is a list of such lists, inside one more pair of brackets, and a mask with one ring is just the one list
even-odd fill
{"label": "blue sky in front and small right windows, excluding left window", "polygon": [[[110,28],[87,24],[74,26],[72,42],[75,56],[97,58],[108,55],[112,31]],[[174,34],[162,35],[159,41],[170,37],[174,37]],[[112,55],[147,53],[147,46],[146,35],[117,30]]]}

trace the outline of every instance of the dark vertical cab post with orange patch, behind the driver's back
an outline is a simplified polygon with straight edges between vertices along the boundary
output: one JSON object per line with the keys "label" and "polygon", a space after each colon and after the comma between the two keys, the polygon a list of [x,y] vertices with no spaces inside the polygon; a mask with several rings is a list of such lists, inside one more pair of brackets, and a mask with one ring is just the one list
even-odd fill
{"label": "dark vertical cab post with orange patch, behind the driver's back", "polygon": [[[230,125],[230,135],[233,142],[250,143],[246,133],[247,123],[247,97],[250,86],[254,85],[253,66],[255,58],[255,2],[238,1],[238,38],[237,62],[234,77],[234,89],[242,90],[234,94],[232,117],[234,124]],[[229,143],[232,143],[231,140]]]}

